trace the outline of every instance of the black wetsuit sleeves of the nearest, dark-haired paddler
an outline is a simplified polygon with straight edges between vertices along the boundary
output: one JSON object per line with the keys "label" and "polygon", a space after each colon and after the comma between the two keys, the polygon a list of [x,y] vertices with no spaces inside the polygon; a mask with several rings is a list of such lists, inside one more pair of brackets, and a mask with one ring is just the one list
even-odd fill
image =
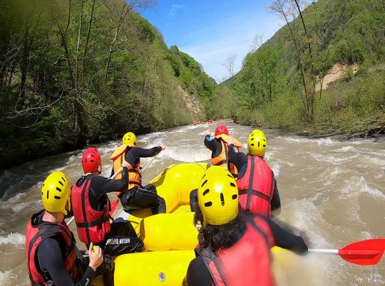
{"label": "black wetsuit sleeves of the nearest, dark-haired paddler", "polygon": [[[285,231],[283,228],[278,226],[277,223],[274,223],[274,221],[270,221],[270,219],[268,218],[262,218],[267,221],[270,226],[270,230],[272,231],[272,235],[274,237],[275,245],[279,246],[280,248],[292,250],[295,253],[299,254],[307,252],[307,245],[306,243],[304,243],[304,240],[300,236],[293,235],[292,233]],[[188,286],[214,285],[210,272],[200,256],[194,258],[190,262],[186,279]]]}

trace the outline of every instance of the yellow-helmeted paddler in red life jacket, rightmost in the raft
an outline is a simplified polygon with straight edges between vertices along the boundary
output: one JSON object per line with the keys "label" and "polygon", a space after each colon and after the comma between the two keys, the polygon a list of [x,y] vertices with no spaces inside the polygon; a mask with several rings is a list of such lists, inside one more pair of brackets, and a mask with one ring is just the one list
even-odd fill
{"label": "yellow-helmeted paddler in red life jacket, rightmost in the raft", "polygon": [[281,201],[274,172],[263,159],[267,140],[265,134],[255,129],[249,134],[249,154],[237,152],[229,140],[229,159],[239,170],[237,186],[240,191],[240,206],[247,213],[258,213],[271,218],[279,216]]}

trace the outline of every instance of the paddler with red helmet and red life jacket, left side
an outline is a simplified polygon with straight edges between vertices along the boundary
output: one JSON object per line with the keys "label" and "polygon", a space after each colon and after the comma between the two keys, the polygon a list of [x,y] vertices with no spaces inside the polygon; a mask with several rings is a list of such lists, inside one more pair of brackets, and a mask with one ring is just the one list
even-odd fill
{"label": "paddler with red helmet and red life jacket, left side", "polygon": [[128,163],[122,163],[122,178],[119,180],[98,176],[102,166],[101,154],[96,148],[86,149],[81,163],[84,175],[73,184],[71,191],[79,239],[86,245],[101,246],[104,253],[112,256],[143,251],[143,241],[130,222],[123,219],[110,222],[111,203],[107,194],[127,189]]}

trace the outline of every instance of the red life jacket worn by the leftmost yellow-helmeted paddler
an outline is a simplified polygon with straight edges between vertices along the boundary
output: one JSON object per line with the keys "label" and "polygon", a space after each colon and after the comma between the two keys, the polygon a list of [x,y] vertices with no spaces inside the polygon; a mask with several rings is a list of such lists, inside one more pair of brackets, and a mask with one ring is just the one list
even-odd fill
{"label": "red life jacket worn by the leftmost yellow-helmeted paddler", "polygon": [[47,284],[51,280],[49,273],[43,272],[39,268],[39,260],[36,250],[40,243],[46,238],[61,235],[65,245],[65,253],[63,253],[64,266],[71,275],[72,280],[76,281],[78,277],[78,268],[76,267],[76,246],[74,238],[65,221],[63,223],[39,223],[39,219],[43,216],[43,211],[35,213],[31,221],[26,226],[26,263],[29,272],[29,280],[31,285],[52,285]]}

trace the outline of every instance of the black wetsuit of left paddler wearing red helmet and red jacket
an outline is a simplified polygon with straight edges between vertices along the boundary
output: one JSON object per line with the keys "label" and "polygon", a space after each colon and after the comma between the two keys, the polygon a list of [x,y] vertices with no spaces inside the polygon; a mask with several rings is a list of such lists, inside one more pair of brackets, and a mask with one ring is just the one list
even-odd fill
{"label": "black wetsuit of left paddler wearing red helmet and red jacket", "polygon": [[[84,179],[91,180],[89,200],[92,208],[103,211],[106,208],[106,194],[127,189],[128,168],[123,168],[122,179],[120,180],[88,174],[87,176],[81,176],[81,179],[76,182],[76,186],[81,186]],[[143,251],[143,241],[138,238],[133,226],[128,221],[121,219],[111,223],[111,232],[98,245],[103,249],[103,253],[113,256]]]}

